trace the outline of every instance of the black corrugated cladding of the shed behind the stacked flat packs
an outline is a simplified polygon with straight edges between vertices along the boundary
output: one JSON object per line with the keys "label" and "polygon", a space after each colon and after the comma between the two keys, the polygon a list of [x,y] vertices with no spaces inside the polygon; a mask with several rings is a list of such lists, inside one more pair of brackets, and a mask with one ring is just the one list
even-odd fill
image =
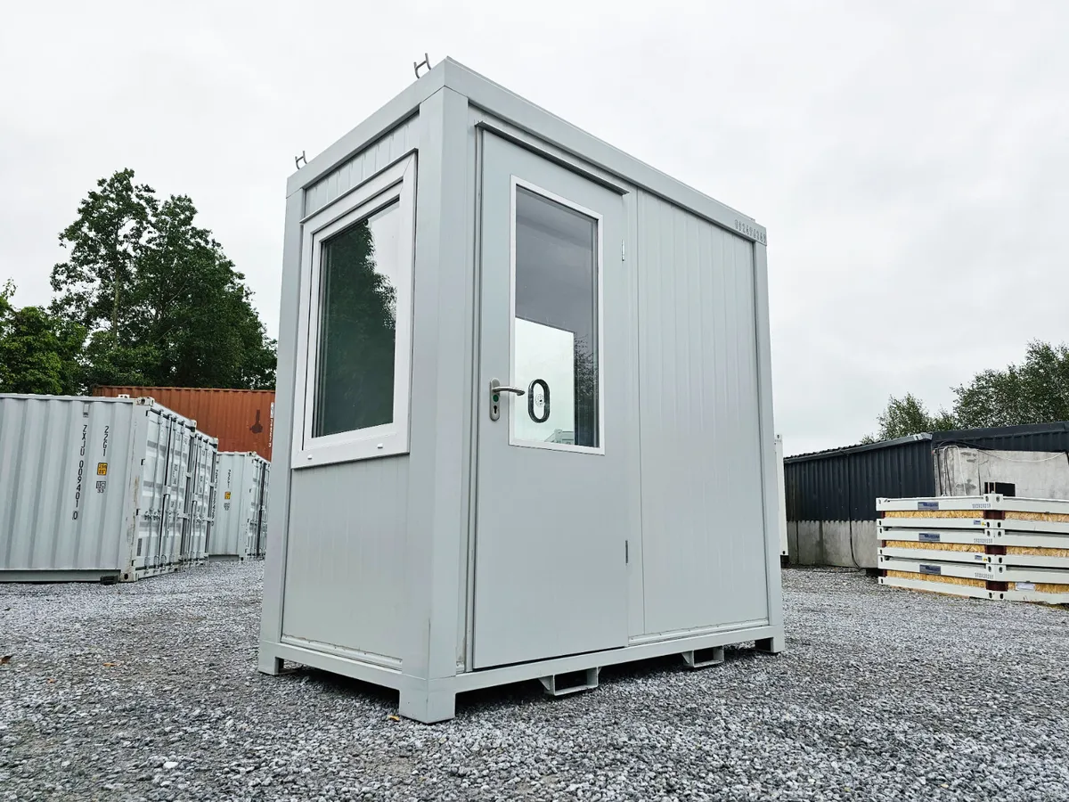
{"label": "black corrugated cladding of the shed behind the stacked flat packs", "polygon": [[877,498],[935,495],[932,448],[1069,451],[1069,422],[960,429],[784,460],[788,521],[872,521]]}

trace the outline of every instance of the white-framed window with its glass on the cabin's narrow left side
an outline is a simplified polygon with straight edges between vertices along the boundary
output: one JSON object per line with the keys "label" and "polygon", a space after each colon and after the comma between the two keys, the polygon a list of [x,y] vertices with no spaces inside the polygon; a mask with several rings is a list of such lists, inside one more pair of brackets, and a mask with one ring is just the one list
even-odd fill
{"label": "white-framed window with its glass on the cabin's narrow left side", "polygon": [[306,220],[295,467],[408,450],[414,187],[409,156]]}

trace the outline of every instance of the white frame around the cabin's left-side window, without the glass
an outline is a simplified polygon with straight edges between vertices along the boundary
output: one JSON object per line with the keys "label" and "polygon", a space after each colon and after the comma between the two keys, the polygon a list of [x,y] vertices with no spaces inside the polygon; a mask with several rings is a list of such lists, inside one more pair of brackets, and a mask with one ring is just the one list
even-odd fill
{"label": "white frame around the cabin's left-side window, without the glass", "polygon": [[[399,203],[398,214],[401,215],[396,276],[393,420],[381,426],[314,437],[312,420],[315,390],[319,386],[323,244],[343,229],[393,203]],[[294,468],[408,452],[415,219],[416,154],[412,153],[301,221],[300,315],[291,461]]]}

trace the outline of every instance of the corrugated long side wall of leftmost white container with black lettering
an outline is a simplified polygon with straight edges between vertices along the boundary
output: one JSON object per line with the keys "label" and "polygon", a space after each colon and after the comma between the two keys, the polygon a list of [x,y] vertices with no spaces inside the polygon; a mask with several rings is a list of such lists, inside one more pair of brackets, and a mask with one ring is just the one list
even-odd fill
{"label": "corrugated long side wall of leftmost white container with black lettering", "polygon": [[128,567],[135,414],[131,402],[0,397],[0,571]]}

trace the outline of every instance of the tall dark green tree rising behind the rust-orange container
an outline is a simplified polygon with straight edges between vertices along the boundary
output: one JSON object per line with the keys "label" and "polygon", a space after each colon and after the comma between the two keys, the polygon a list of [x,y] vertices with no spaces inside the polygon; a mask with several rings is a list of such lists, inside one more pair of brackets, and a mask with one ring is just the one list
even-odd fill
{"label": "tall dark green tree rising behind the rust-orange container", "polygon": [[60,234],[51,311],[89,331],[87,387],[269,388],[275,342],[243,274],[186,196],[160,201],[133,170],[97,182]]}

